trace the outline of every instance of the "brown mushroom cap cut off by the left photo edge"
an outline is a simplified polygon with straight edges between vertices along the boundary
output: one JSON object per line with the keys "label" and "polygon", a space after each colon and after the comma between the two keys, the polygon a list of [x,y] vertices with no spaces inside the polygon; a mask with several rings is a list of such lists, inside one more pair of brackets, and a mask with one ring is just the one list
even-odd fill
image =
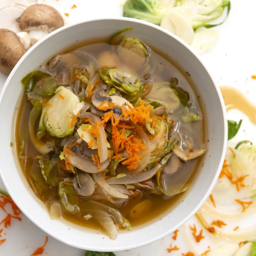
{"label": "brown mushroom cap cut off by the left photo edge", "polygon": [[8,76],[26,49],[20,38],[8,29],[0,29],[0,72]]}

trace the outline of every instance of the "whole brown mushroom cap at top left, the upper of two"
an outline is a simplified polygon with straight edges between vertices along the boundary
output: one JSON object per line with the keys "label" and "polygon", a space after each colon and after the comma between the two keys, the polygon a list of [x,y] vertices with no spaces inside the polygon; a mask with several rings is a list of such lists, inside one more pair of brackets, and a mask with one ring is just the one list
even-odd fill
{"label": "whole brown mushroom cap at top left, the upper of two", "polygon": [[29,6],[21,14],[19,22],[22,31],[43,29],[52,32],[64,26],[64,21],[60,13],[46,4]]}

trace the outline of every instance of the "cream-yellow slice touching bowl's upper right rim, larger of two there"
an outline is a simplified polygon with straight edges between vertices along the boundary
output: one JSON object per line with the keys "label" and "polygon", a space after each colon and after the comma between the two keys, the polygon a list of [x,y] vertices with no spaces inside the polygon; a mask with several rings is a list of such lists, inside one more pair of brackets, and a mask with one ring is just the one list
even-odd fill
{"label": "cream-yellow slice touching bowl's upper right rim, larger of two there", "polygon": [[172,9],[166,12],[160,26],[180,37],[185,43],[191,44],[194,38],[194,29],[190,21]]}

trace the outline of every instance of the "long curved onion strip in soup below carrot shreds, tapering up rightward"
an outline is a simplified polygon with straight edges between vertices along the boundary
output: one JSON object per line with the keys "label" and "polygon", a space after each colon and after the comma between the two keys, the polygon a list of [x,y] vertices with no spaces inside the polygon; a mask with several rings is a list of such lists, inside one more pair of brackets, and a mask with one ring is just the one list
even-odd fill
{"label": "long curved onion strip in soup below carrot shreds, tapering up rightward", "polygon": [[138,173],[136,175],[126,175],[121,178],[112,177],[107,179],[108,184],[132,184],[139,183],[144,180],[152,178],[156,172],[161,168],[160,164],[157,164],[155,168],[152,168],[146,172]]}

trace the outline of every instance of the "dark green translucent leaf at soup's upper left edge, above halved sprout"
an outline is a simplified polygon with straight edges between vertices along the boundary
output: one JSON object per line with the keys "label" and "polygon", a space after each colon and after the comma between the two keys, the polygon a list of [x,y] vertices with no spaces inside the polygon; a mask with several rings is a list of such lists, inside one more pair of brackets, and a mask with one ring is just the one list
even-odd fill
{"label": "dark green translucent leaf at soup's upper left edge, above halved sprout", "polygon": [[56,91],[55,79],[42,71],[33,71],[21,80],[27,92],[34,91],[43,96],[52,95]]}

